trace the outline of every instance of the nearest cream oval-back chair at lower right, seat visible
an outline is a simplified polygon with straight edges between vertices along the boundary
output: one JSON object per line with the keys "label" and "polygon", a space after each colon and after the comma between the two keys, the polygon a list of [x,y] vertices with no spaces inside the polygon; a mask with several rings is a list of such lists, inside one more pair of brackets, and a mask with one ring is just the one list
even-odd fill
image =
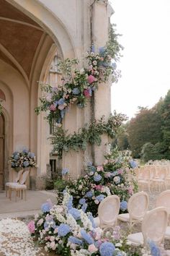
{"label": "nearest cream oval-back chair at lower right, seat visible", "polygon": [[158,207],[150,210],[143,218],[142,232],[129,234],[128,242],[135,246],[147,246],[148,241],[153,241],[159,245],[164,240],[167,224],[168,212],[166,208]]}

